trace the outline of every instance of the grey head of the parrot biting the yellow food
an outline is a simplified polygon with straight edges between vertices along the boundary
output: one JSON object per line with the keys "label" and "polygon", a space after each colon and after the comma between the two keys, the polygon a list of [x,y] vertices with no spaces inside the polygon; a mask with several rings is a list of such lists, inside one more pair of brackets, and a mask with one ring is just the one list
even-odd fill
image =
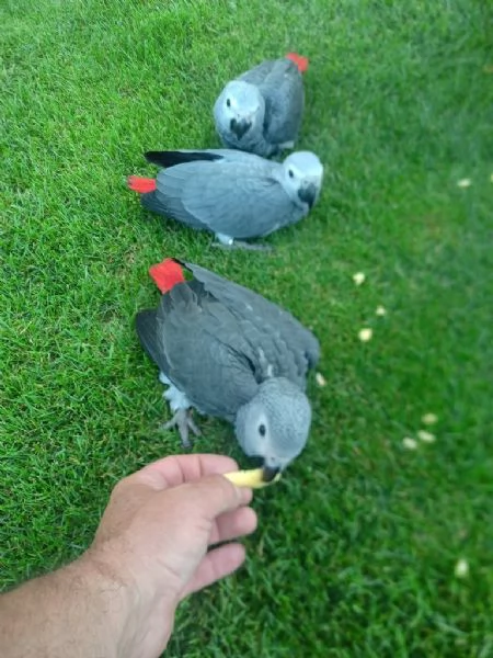
{"label": "grey head of the parrot biting the yellow food", "polygon": [[284,377],[272,377],[237,412],[234,429],[243,452],[263,458],[270,481],[303,450],[311,423],[307,396]]}

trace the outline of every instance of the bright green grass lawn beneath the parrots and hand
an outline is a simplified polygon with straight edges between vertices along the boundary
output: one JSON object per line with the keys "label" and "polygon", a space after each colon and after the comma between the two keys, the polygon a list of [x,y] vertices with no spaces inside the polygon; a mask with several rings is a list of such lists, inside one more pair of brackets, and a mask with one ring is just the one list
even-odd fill
{"label": "bright green grass lawn beneath the parrots and hand", "polygon": [[[311,326],[328,385],[306,452],[256,496],[246,567],[183,605],[167,656],[493,656],[492,14],[3,0],[3,587],[78,555],[114,483],[179,452],[134,330],[148,266],[175,254]],[[310,217],[265,256],[146,215],[124,185],[153,171],[142,151],[216,146],[222,83],[291,49],[311,60],[299,146],[326,170]],[[405,451],[427,411],[436,443]],[[203,429],[196,450],[241,458],[229,427]]]}

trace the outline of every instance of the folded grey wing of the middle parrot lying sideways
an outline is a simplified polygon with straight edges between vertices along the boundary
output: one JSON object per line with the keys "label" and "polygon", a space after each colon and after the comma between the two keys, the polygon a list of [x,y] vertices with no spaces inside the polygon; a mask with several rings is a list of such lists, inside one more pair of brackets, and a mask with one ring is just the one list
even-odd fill
{"label": "folded grey wing of the middle parrot lying sideways", "polygon": [[232,238],[265,236],[302,217],[280,183],[268,174],[272,164],[191,162],[172,167],[158,175],[158,197],[171,216],[190,226]]}

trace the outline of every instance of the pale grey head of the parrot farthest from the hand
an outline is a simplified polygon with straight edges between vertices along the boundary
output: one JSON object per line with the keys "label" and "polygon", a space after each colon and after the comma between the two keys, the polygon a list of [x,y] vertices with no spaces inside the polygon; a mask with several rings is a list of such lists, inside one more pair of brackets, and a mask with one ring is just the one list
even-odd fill
{"label": "pale grey head of the parrot farthest from the hand", "polygon": [[219,134],[232,141],[262,131],[265,101],[254,84],[242,80],[228,82],[214,105],[214,117]]}

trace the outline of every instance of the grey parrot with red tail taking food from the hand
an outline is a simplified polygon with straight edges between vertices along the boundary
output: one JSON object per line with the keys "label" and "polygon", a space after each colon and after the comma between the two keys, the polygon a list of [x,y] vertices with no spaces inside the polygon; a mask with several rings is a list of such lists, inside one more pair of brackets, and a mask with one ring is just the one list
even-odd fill
{"label": "grey parrot with red tail taking food from the hand", "polygon": [[[192,273],[186,281],[182,266]],[[234,423],[243,452],[263,458],[268,481],[303,450],[311,422],[305,394],[320,354],[317,338],[261,295],[192,263],[167,259],[149,270],[161,292],[157,309],[137,314],[140,342],[160,381],[183,445],[190,413]]]}

